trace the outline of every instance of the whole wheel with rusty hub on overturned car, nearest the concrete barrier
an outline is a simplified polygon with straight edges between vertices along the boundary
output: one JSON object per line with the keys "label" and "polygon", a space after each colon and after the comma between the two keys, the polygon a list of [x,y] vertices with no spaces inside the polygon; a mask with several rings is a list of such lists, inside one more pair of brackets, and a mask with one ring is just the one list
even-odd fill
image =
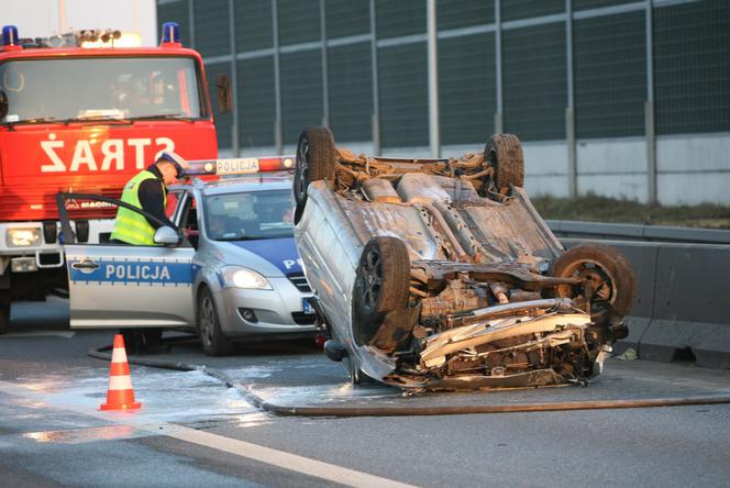
{"label": "whole wheel with rusty hub on overturned car, nearest the concrete barrier", "polygon": [[[558,278],[587,279],[591,301],[591,318],[599,319],[611,311],[623,317],[631,311],[637,298],[637,278],[629,259],[616,247],[605,244],[579,244],[571,247],[553,264],[552,275]],[[561,285],[555,295],[561,298],[584,293],[571,285]],[[610,307],[607,307],[610,306]]]}

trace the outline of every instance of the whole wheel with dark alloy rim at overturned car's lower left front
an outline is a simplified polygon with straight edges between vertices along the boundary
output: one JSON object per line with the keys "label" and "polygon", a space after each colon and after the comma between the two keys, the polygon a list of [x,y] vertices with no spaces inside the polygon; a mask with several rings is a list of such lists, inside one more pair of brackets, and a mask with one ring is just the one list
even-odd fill
{"label": "whole wheel with dark alloy rim at overturned car's lower left front", "polygon": [[377,332],[385,314],[408,304],[410,257],[398,237],[368,241],[357,265],[353,290],[353,335],[363,344]]}

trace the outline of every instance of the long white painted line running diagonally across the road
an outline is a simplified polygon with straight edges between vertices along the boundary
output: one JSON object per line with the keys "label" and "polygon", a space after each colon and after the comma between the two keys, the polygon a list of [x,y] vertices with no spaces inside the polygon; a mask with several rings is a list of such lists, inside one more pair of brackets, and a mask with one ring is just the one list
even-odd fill
{"label": "long white painted line running diagonally across the road", "polygon": [[301,473],[328,481],[339,483],[351,487],[384,487],[384,488],[408,488],[412,485],[395,481],[355,469],[345,468],[334,464],[323,463],[297,454],[265,447],[245,441],[225,437],[223,435],[212,434],[210,432],[198,431],[184,425],[154,422],[146,418],[143,412],[100,412],[91,410],[88,407],[78,404],[54,404],[47,401],[47,395],[34,390],[32,386],[21,386],[10,381],[0,380],[0,391],[7,395],[22,397],[34,401],[44,402],[51,407],[69,410],[75,413],[81,413],[97,419],[103,419],[120,425],[134,425],[136,429],[147,431],[157,435],[166,435],[180,441],[190,442],[204,447],[234,454],[248,459],[266,463],[291,472]]}

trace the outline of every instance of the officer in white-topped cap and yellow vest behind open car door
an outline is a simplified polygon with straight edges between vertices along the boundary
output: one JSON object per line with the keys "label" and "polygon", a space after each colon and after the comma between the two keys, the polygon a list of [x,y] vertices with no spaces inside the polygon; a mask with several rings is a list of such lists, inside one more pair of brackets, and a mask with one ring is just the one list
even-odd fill
{"label": "officer in white-topped cap and yellow vest behind open car door", "polygon": [[[122,192],[122,201],[144,210],[159,219],[165,225],[175,229],[165,214],[167,186],[175,182],[188,167],[188,162],[178,154],[163,153],[155,164],[140,171],[126,182]],[[120,206],[117,210],[111,240],[132,245],[152,246],[155,245],[153,237],[159,226],[159,223],[145,215]]]}

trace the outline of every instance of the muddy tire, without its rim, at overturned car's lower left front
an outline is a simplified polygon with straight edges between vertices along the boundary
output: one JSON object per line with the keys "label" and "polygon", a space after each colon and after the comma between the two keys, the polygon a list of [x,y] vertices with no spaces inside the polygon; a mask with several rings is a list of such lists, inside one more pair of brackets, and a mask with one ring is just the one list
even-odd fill
{"label": "muddy tire, without its rim, at overturned car's lower left front", "polygon": [[[358,290],[364,285],[362,282],[364,279],[363,268],[366,266],[366,256],[372,249],[380,255],[381,285],[375,308],[369,310],[362,303]],[[354,297],[356,313],[362,318],[366,318],[405,308],[408,303],[409,286],[410,257],[406,243],[398,237],[378,236],[370,239],[365,245],[357,265]]]}

